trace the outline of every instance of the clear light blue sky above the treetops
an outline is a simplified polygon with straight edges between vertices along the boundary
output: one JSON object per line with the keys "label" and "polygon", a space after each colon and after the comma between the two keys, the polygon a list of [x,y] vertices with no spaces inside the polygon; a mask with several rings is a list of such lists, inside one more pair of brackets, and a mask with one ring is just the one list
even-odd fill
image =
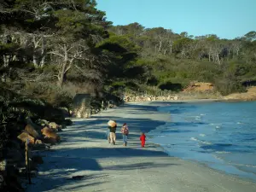
{"label": "clear light blue sky above the treetops", "polygon": [[256,0],[97,0],[113,25],[133,22],[146,28],[237,38],[256,31]]}

